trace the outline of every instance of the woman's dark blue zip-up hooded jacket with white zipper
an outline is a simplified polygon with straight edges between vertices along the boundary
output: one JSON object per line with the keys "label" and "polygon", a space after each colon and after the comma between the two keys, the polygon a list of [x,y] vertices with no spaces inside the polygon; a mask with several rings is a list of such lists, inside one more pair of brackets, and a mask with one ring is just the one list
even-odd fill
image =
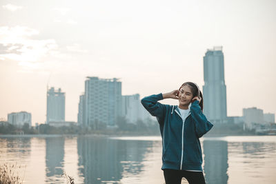
{"label": "woman's dark blue zip-up hooded jacket with white zipper", "polygon": [[163,95],[153,94],[141,99],[144,108],[159,123],[163,151],[161,169],[201,170],[202,152],[199,138],[212,127],[201,111],[199,101],[190,105],[190,113],[182,119],[177,105],[164,105],[158,101]]}

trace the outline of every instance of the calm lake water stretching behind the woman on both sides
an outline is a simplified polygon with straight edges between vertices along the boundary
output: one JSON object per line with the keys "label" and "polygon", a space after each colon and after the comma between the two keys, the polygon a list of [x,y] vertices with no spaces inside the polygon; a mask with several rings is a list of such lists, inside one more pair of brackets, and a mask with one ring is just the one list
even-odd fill
{"label": "calm lake water stretching behind the woman on both sides", "polygon": [[[276,183],[276,136],[208,137],[201,146],[206,183]],[[23,183],[66,183],[63,172],[75,183],[164,183],[159,136],[0,137],[0,163],[16,163]]]}

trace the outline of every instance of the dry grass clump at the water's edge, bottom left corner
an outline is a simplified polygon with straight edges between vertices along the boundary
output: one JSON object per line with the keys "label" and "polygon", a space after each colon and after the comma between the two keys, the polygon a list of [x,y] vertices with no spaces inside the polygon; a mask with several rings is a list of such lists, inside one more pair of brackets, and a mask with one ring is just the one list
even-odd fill
{"label": "dry grass clump at the water's edge, bottom left corner", "polygon": [[23,178],[19,177],[19,170],[21,169],[23,169],[23,167],[21,165],[18,166],[16,163],[15,164],[1,163],[0,164],[0,184],[23,183]]}

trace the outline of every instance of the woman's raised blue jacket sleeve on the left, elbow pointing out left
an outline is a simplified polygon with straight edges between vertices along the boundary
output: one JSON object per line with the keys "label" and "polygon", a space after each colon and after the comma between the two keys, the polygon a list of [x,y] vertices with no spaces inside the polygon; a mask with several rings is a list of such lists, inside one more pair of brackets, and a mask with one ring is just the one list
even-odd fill
{"label": "woman's raised blue jacket sleeve on the left, elbow pointing out left", "polygon": [[163,100],[163,95],[152,94],[141,99],[141,103],[150,112],[152,116],[157,117],[158,123],[164,122],[164,116],[166,114],[166,105],[159,103],[158,101]]}

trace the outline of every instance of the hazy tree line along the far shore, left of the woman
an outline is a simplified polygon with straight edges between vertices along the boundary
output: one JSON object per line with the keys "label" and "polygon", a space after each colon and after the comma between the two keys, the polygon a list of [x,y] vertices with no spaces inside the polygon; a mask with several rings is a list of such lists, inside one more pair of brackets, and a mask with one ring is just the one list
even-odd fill
{"label": "hazy tree line along the far shore, left of the woman", "polygon": [[124,117],[117,119],[117,126],[108,127],[106,124],[97,122],[91,125],[70,125],[55,127],[48,124],[40,124],[30,127],[25,123],[22,127],[14,126],[8,122],[0,123],[0,134],[159,134],[157,121],[148,119],[147,122],[138,120],[128,123]]}

